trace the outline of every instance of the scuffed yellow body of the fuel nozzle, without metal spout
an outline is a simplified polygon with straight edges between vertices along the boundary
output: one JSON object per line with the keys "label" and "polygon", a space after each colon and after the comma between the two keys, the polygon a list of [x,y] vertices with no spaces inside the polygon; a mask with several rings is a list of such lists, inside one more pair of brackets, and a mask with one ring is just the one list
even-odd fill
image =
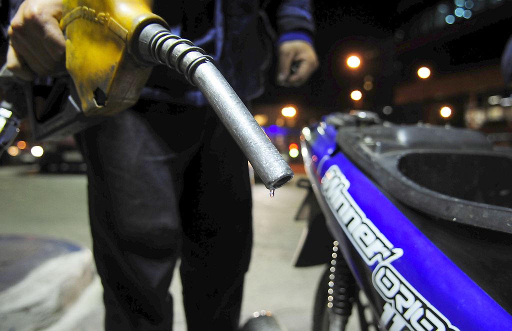
{"label": "scuffed yellow body of the fuel nozzle, without metal spout", "polygon": [[66,68],[88,116],[112,115],[133,106],[151,73],[129,54],[132,36],[151,23],[152,1],[63,0]]}

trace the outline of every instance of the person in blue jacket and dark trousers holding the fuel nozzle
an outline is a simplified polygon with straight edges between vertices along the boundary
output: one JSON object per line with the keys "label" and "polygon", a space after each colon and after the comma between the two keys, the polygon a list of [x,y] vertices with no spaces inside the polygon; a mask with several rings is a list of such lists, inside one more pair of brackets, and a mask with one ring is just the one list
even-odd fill
{"label": "person in blue jacket and dark trousers holding the fuel nozzle", "polygon": [[[27,80],[58,70],[62,0],[9,6],[7,67]],[[173,33],[215,59],[247,106],[264,91],[273,45],[280,85],[300,86],[318,67],[311,1],[275,6],[276,39],[264,7],[258,0],[153,2]],[[88,164],[105,329],[172,329],[168,289],[177,261],[188,329],[238,329],[252,246],[247,159],[201,92],[155,68],[135,106],[76,140]]]}

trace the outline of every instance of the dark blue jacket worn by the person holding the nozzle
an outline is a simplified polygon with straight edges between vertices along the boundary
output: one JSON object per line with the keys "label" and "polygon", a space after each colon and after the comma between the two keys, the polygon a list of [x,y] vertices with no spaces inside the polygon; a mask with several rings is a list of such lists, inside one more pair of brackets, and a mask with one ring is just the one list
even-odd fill
{"label": "dark blue jacket worn by the person holding the nozzle", "polygon": [[[2,0],[0,0],[2,1]],[[23,0],[10,0],[3,10],[12,18]],[[271,6],[268,6],[271,5]],[[154,1],[154,12],[173,33],[189,38],[216,60],[219,70],[243,100],[263,93],[273,45],[291,39],[312,43],[315,32],[311,0],[182,0]],[[267,8],[278,8],[270,16]],[[9,22],[2,22],[4,34]],[[143,98],[206,105],[202,94],[172,69],[153,70]]]}

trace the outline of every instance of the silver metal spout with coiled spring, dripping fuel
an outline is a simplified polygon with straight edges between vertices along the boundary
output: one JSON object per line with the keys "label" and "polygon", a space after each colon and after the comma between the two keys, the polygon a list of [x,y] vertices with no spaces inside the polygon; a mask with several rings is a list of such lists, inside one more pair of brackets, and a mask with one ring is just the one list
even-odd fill
{"label": "silver metal spout with coiled spring, dripping fuel", "polygon": [[203,50],[150,24],[139,35],[137,53],[146,62],[176,68],[201,90],[267,189],[277,189],[293,177],[288,163]]}

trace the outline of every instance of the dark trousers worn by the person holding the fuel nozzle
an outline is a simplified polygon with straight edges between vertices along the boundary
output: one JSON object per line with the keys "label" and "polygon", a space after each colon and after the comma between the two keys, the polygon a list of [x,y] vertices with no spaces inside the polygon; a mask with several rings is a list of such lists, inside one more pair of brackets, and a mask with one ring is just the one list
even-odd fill
{"label": "dark trousers worn by the person holding the fuel nozzle", "polygon": [[77,137],[106,330],[234,330],[251,245],[247,159],[209,108],[139,102]]}

